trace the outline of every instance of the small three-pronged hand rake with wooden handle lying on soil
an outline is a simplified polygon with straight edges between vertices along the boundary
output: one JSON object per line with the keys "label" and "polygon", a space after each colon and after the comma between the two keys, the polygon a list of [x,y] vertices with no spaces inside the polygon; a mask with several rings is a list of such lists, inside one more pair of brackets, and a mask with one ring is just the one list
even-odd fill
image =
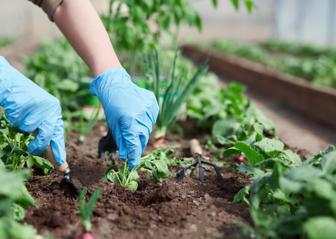
{"label": "small three-pronged hand rake with wooden handle lying on soil", "polygon": [[199,164],[199,169],[200,169],[200,180],[203,181],[204,180],[204,174],[203,174],[203,167],[202,167],[202,163],[205,163],[205,164],[208,164],[208,165],[211,165],[215,168],[216,170],[216,173],[217,173],[217,176],[219,179],[223,179],[221,177],[221,174],[219,172],[219,169],[217,167],[216,164],[214,163],[209,163],[209,162],[205,162],[205,161],[201,161],[201,158],[202,158],[202,154],[203,154],[203,151],[202,151],[202,148],[201,148],[201,145],[200,145],[200,142],[197,140],[197,139],[192,139],[190,140],[189,142],[189,145],[190,145],[190,153],[192,154],[192,156],[197,159],[196,162],[186,166],[185,168],[183,168],[180,172],[180,180],[182,180],[184,178],[184,173],[185,173],[185,170],[187,170],[189,167],[192,167],[196,164]]}

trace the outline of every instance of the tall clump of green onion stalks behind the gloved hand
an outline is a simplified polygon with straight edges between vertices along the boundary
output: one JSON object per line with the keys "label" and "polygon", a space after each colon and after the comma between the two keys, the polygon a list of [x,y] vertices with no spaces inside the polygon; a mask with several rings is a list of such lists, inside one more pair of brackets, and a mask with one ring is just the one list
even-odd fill
{"label": "tall clump of green onion stalks behind the gloved hand", "polygon": [[198,68],[197,72],[189,79],[187,78],[187,68],[176,67],[176,59],[179,51],[176,50],[175,57],[167,76],[167,86],[163,89],[162,97],[160,97],[160,59],[157,50],[155,54],[149,56],[144,54],[145,70],[149,85],[154,91],[156,100],[159,104],[160,111],[156,121],[156,134],[165,135],[173,123],[176,122],[177,113],[182,104],[185,103],[189,95],[194,91],[200,77],[208,70],[206,65],[208,59]]}

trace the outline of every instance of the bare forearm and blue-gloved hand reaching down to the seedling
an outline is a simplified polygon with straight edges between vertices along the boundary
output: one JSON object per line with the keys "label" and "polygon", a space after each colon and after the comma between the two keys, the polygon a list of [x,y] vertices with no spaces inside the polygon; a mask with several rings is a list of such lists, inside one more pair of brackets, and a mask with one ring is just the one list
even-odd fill
{"label": "bare forearm and blue-gloved hand reaching down to the seedling", "polygon": [[93,72],[90,92],[102,102],[119,157],[128,158],[132,169],[156,122],[159,107],[154,94],[131,82],[89,0],[63,0],[52,19]]}

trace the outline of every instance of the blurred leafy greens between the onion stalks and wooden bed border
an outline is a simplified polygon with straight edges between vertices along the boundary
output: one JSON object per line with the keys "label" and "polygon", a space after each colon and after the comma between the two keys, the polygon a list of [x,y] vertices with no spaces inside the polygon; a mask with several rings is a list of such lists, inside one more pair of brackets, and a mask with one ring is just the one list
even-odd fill
{"label": "blurred leafy greens between the onion stalks and wooden bed border", "polygon": [[217,82],[215,75],[205,75],[187,100],[188,116],[198,119],[198,126],[212,127],[215,143],[230,147],[258,135],[261,139],[264,129],[274,134],[273,122],[242,95],[241,84],[231,82],[227,88],[219,88]]}

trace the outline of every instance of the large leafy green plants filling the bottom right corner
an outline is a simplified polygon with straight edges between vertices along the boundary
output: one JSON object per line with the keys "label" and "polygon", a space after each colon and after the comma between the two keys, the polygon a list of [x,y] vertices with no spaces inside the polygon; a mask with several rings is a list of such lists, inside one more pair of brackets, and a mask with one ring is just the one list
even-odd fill
{"label": "large leafy green plants filling the bottom right corner", "polygon": [[334,237],[334,147],[301,163],[296,153],[283,150],[284,144],[276,137],[264,138],[261,128],[255,130],[259,135],[252,141],[237,142],[224,155],[243,153],[250,163],[234,165],[255,180],[239,191],[234,202],[241,200],[249,206],[257,238]]}

